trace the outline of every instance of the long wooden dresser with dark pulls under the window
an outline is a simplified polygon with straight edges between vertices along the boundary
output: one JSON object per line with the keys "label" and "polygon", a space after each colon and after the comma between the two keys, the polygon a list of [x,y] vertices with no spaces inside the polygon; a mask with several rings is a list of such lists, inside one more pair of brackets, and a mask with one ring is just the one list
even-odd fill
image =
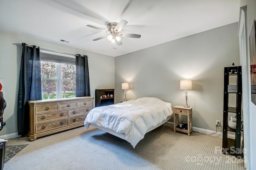
{"label": "long wooden dresser with dark pulls under the window", "polygon": [[84,120],[93,107],[94,97],[75,97],[28,101],[30,124],[28,139],[61,132],[84,125]]}

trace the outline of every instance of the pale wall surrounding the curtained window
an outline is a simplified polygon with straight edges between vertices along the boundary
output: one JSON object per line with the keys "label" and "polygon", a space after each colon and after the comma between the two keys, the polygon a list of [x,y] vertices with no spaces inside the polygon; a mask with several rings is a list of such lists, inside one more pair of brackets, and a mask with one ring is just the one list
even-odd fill
{"label": "pale wall surrounding the curtained window", "polygon": [[22,46],[13,45],[12,43],[22,42],[50,50],[87,55],[89,57],[91,96],[95,96],[96,88],[115,88],[114,57],[72,48],[62,44],[37,40],[35,38],[30,38],[29,36],[0,31],[0,82],[3,82],[2,84],[4,87],[2,91],[4,93],[4,98],[7,101],[7,106],[3,115],[6,126],[0,131],[0,136],[10,134],[15,135],[17,133],[16,100],[18,98],[18,78]]}

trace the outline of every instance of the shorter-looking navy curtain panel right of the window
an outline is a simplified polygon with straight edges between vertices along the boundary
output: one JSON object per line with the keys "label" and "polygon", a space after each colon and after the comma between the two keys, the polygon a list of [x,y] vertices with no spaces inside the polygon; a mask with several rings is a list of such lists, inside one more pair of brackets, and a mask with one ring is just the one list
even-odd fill
{"label": "shorter-looking navy curtain panel right of the window", "polygon": [[87,56],[76,55],[76,97],[91,96]]}

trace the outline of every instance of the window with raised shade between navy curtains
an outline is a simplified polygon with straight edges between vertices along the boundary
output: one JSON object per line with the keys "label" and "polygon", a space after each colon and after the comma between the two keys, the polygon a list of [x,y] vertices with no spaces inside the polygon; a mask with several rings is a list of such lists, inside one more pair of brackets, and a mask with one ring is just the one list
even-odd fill
{"label": "window with raised shade between navy curtains", "polygon": [[42,99],[76,97],[75,59],[40,53]]}

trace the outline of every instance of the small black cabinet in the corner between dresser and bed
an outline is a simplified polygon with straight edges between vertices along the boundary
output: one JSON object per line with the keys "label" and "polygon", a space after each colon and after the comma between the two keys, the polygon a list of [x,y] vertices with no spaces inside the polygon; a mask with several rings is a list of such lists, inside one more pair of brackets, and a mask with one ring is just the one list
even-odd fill
{"label": "small black cabinet in the corner between dresser and bed", "polygon": [[95,107],[107,106],[115,102],[115,89],[96,89]]}

